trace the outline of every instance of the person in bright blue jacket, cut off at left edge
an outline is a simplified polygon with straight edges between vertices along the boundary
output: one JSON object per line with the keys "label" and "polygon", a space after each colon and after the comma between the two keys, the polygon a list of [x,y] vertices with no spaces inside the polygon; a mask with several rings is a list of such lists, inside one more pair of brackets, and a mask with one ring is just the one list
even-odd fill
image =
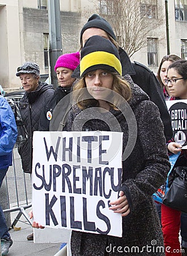
{"label": "person in bright blue jacket, cut off at left edge", "polygon": [[[12,165],[12,150],[17,138],[17,128],[14,113],[6,99],[0,95],[0,188],[3,179]],[[5,215],[0,205],[0,237],[1,255],[9,253],[9,248],[13,245],[9,229],[6,225]]]}

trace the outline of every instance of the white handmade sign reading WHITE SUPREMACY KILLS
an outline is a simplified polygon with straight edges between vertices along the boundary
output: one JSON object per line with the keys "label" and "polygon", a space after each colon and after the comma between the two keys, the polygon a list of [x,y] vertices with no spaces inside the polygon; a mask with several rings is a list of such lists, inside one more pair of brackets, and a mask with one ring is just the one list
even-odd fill
{"label": "white handmade sign reading WHITE SUPREMACY KILLS", "polygon": [[122,237],[122,216],[109,209],[120,187],[122,136],[109,131],[35,131],[34,221]]}

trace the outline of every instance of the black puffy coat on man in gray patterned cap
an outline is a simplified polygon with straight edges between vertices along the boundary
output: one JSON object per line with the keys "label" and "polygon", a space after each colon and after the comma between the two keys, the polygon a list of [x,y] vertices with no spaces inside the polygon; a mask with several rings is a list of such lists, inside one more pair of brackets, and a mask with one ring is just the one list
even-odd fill
{"label": "black puffy coat on man in gray patterned cap", "polygon": [[46,102],[53,97],[53,86],[39,82],[38,88],[30,93],[25,92],[19,101],[19,110],[24,126],[28,133],[28,140],[21,143],[18,152],[22,158],[24,172],[32,170],[32,135],[34,131],[48,131],[49,121],[47,118],[41,120],[46,112]]}

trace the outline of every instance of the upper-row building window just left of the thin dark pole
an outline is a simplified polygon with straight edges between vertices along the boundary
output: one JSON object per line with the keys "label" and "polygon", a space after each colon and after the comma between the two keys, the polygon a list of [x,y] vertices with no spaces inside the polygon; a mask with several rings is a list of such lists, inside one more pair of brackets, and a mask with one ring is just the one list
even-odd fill
{"label": "upper-row building window just left of the thin dark pole", "polygon": [[140,13],[142,17],[157,19],[157,0],[140,0]]}

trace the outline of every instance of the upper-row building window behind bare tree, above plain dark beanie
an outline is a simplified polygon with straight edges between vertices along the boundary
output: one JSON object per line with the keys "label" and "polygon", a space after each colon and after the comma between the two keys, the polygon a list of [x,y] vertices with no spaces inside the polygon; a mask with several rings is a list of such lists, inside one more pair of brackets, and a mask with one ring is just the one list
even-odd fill
{"label": "upper-row building window behind bare tree, above plain dark beanie", "polygon": [[99,0],[99,14],[115,15],[119,11],[118,0]]}

